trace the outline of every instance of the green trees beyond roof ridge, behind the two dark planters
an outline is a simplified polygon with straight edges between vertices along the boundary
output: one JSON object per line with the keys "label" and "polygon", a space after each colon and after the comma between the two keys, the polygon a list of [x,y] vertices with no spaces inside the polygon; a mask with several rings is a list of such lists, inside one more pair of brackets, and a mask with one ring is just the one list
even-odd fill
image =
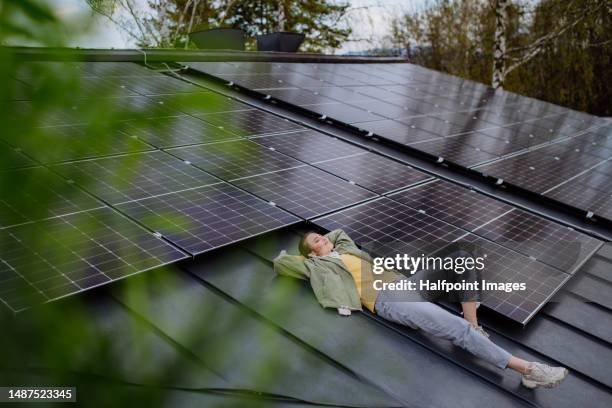
{"label": "green trees beyond roof ridge, behind the two dark planters", "polygon": [[[187,47],[195,28],[240,28],[251,37],[304,33],[304,49],[340,46],[351,34],[348,3],[330,0],[87,0],[140,47]],[[139,7],[140,5],[140,7]]]}

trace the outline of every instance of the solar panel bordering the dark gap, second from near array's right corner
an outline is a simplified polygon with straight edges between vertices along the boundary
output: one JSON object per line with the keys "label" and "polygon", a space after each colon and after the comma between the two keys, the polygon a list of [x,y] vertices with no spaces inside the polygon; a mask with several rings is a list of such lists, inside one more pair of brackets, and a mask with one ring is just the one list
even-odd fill
{"label": "solar panel bordering the dark gap, second from near array's right corner", "polygon": [[443,180],[409,188],[390,197],[468,231],[514,208],[474,190]]}

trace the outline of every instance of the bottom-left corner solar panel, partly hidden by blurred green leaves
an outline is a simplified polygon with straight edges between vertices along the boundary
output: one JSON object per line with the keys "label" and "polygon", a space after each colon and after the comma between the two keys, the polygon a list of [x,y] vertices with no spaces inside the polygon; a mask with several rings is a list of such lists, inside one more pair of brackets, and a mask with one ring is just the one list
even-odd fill
{"label": "bottom-left corner solar panel, partly hidden by blurred green leaves", "polygon": [[108,207],[14,226],[0,237],[0,299],[19,311],[186,257]]}

